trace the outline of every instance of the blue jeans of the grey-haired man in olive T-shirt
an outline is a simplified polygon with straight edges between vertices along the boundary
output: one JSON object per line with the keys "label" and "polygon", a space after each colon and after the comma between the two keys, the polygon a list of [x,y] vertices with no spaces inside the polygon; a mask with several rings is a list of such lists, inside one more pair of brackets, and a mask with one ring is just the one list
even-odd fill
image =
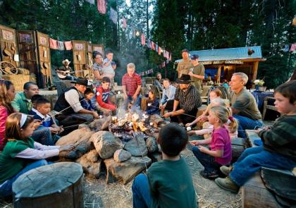
{"label": "blue jeans of the grey-haired man in olive T-shirt", "polygon": [[247,118],[245,116],[238,116],[233,115],[234,118],[238,119],[238,137],[241,138],[247,138],[247,135],[245,133],[246,129],[255,129],[256,127],[263,126],[263,123],[261,120],[253,120],[251,118]]}

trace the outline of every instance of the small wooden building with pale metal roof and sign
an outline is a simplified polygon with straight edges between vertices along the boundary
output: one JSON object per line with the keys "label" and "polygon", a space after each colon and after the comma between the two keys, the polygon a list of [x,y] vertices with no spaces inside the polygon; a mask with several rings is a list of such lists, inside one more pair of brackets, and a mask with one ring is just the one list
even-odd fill
{"label": "small wooden building with pale metal roof and sign", "polygon": [[[262,57],[261,47],[240,47],[230,49],[212,49],[201,51],[190,51],[190,56],[198,55],[199,63],[204,65],[205,73],[215,72],[214,80],[230,80],[231,75],[243,72],[250,80],[257,78],[257,70],[260,61],[266,61]],[[175,64],[178,62],[175,61]]]}

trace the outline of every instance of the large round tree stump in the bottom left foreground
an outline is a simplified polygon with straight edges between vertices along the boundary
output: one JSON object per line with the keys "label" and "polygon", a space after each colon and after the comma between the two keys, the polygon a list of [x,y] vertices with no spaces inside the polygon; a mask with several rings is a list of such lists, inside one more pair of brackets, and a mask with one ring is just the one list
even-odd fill
{"label": "large round tree stump in the bottom left foreground", "polygon": [[14,207],[83,207],[82,166],[59,162],[32,169],[13,183]]}

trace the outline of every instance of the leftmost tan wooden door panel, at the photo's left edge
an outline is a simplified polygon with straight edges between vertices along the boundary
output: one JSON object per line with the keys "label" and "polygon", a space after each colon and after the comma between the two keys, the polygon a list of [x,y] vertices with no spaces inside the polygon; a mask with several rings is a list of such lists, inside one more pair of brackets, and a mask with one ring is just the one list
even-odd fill
{"label": "leftmost tan wooden door panel, at the photo's left edge", "polygon": [[19,67],[18,45],[16,44],[16,30],[0,25],[1,61],[7,61]]}

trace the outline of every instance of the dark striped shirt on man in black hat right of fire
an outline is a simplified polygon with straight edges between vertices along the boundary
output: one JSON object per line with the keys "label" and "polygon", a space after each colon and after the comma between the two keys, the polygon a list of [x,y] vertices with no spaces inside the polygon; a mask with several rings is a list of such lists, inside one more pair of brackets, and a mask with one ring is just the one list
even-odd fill
{"label": "dark striped shirt on man in black hat right of fire", "polygon": [[178,87],[175,92],[175,100],[179,102],[180,109],[183,109],[185,114],[202,106],[200,94],[192,85],[189,85],[185,92]]}

